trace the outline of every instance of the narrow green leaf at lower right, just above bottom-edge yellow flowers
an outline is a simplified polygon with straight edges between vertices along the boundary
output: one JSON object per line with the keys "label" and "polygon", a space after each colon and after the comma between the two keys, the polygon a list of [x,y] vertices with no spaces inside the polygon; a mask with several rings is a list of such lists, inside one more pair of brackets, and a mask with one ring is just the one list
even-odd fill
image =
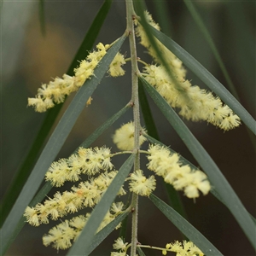
{"label": "narrow green leaf at lower right, just above bottom-edge yellow flowers", "polygon": [[207,256],[216,256],[223,255],[218,251],[216,247],[212,245],[210,241],[207,240],[194,226],[189,224],[189,222],[179,215],[172,207],[168,206],[164,201],[161,201],[160,198],[154,194],[149,195],[149,199],[154,203],[156,207],[163,212],[166,217],[172,221],[178,230],[183,232],[185,236],[189,238],[190,241],[193,241],[197,247],[201,249],[203,253]]}

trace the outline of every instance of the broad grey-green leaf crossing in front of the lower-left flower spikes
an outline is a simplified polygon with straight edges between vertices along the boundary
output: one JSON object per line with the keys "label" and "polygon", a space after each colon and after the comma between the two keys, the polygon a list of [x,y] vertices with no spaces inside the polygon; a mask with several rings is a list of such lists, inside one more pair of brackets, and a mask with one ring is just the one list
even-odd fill
{"label": "broad grey-green leaf crossing in front of the lower-left flower spikes", "polygon": [[131,171],[134,158],[135,154],[131,154],[123,166],[121,166],[118,174],[113,178],[113,182],[109,185],[107,191],[102,196],[101,201],[96,205],[95,209],[91,213],[90,218],[85,224],[84,230],[80,234],[78,240],[75,241],[67,255],[89,255],[93,236],[96,234],[96,230],[102,223],[102,219],[108,212],[108,209],[118,194],[120,187],[125,182],[125,178]]}

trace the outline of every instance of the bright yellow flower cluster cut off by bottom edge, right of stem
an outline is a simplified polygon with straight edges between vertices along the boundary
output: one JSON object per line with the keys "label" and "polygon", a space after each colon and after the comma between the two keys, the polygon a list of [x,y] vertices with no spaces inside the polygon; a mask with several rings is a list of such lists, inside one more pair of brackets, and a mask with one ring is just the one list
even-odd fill
{"label": "bright yellow flower cluster cut off by bottom edge, right of stem", "polygon": [[183,244],[179,241],[173,243],[167,243],[166,249],[162,251],[163,255],[167,254],[167,251],[177,253],[177,256],[203,256],[204,253],[201,249],[196,247],[192,241],[183,241]]}

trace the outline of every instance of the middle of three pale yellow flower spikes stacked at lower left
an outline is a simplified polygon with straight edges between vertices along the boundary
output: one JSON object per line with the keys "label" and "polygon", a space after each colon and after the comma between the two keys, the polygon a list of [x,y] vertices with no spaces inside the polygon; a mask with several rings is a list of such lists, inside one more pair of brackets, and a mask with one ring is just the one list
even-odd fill
{"label": "middle of three pale yellow flower spikes stacked at lower left", "polygon": [[[85,207],[94,207],[116,174],[117,171],[104,172],[90,181],[79,183],[78,187],[73,186],[72,191],[55,193],[54,197],[44,201],[44,204],[26,207],[26,221],[33,226],[48,224],[49,218],[56,220]],[[119,190],[119,195],[125,195],[123,188]]]}

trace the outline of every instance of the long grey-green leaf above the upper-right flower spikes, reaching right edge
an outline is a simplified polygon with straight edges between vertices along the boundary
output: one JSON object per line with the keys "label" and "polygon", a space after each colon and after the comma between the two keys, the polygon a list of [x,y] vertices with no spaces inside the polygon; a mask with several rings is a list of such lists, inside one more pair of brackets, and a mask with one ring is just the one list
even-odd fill
{"label": "long grey-green leaf above the upper-right flower spikes, reaching right edge", "polygon": [[176,55],[184,65],[188,67],[195,75],[198,76],[207,86],[213,90],[233,111],[241,118],[247,127],[253,131],[256,135],[256,121],[247,112],[245,108],[241,106],[241,103],[232,96],[223,84],[221,84],[218,79],[212,76],[211,73],[207,71],[205,67],[201,65],[195,58],[187,51],[185,51],[181,46],[175,43],[171,38],[168,38],[162,32],[156,30],[153,26],[150,26],[150,31],[162,44],[170,49],[174,55]]}

